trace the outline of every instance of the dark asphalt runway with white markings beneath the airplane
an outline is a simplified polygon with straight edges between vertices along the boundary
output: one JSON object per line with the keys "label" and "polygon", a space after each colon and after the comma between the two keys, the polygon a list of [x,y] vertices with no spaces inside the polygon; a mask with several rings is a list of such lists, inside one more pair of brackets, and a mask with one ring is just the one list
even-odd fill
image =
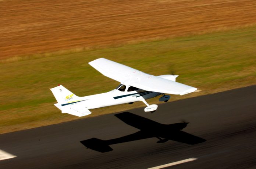
{"label": "dark asphalt runway with white markings beneath the airplane", "polygon": [[256,86],[2,134],[0,149],[17,156],[1,169],[255,169]]}

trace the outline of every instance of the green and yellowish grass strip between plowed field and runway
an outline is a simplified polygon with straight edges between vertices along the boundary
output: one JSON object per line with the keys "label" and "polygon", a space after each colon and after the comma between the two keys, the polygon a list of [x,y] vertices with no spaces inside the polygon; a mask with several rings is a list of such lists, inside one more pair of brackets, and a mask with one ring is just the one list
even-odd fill
{"label": "green and yellowish grass strip between plowed field and runway", "polygon": [[[175,72],[178,82],[202,90],[172,100],[256,84],[256,27],[41,56],[1,62],[0,133],[77,119],[53,106],[49,88],[60,83],[79,96],[112,90],[119,83],[88,64],[100,57],[153,75]],[[138,106],[95,109],[89,117]]]}

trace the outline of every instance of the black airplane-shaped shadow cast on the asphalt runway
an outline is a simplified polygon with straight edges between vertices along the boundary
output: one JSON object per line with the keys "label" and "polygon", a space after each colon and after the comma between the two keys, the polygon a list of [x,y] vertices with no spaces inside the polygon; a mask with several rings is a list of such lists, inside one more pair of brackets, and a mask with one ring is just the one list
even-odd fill
{"label": "black airplane-shaped shadow cast on the asphalt runway", "polygon": [[91,138],[88,140],[83,140],[81,143],[88,149],[105,153],[113,150],[109,146],[111,144],[131,142],[134,140],[141,140],[152,137],[159,139],[157,143],[164,143],[168,140],[174,140],[186,144],[198,144],[206,141],[203,138],[199,138],[192,134],[181,131],[187,126],[188,123],[160,124],[156,121],[149,120],[145,117],[141,117],[129,112],[115,114],[115,116],[118,119],[124,121],[124,123],[140,129],[140,131],[135,132],[134,134],[110,140]]}

